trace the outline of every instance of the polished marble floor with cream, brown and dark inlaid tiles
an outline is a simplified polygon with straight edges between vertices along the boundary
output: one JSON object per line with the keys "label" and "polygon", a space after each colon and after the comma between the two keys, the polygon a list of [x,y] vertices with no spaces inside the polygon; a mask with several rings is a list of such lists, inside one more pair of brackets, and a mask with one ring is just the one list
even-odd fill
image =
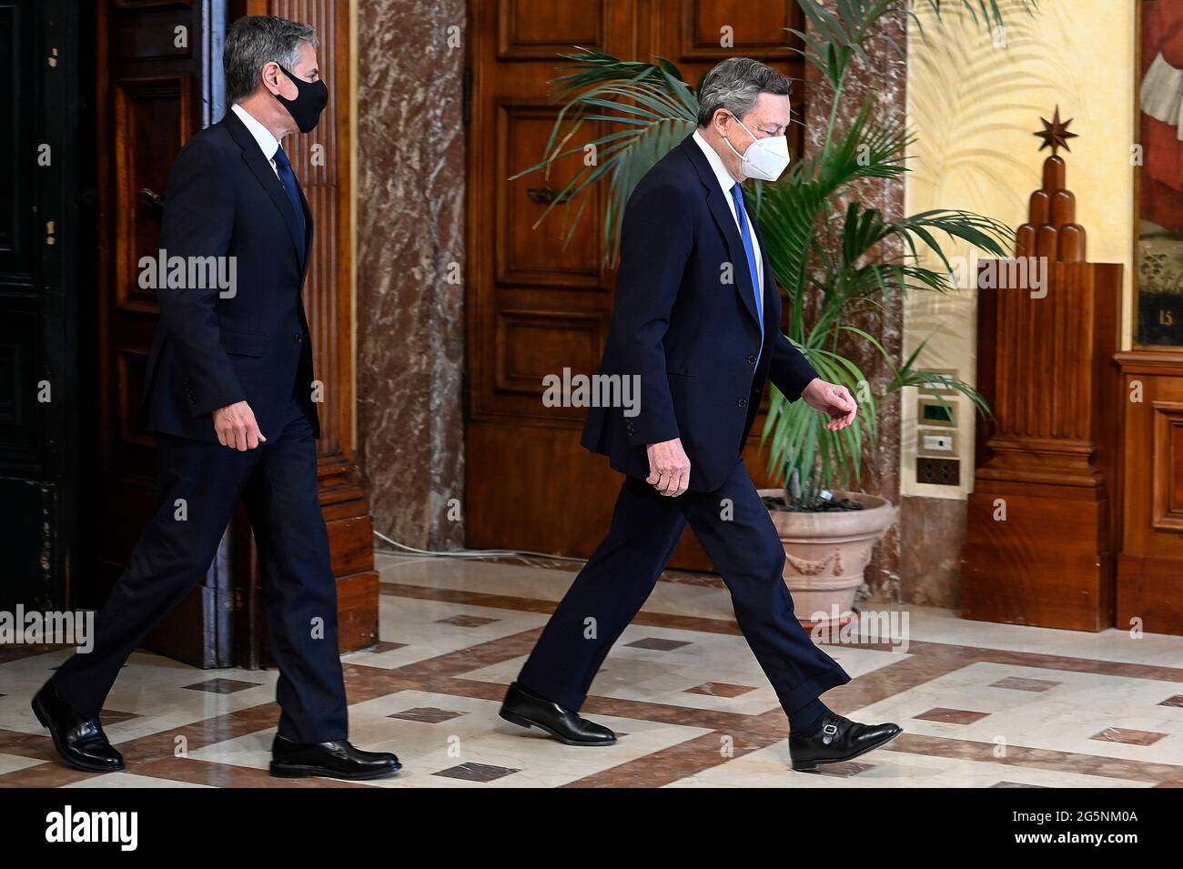
{"label": "polished marble floor with cream, brown and dark inlaid tiles", "polygon": [[825,695],[904,735],[821,773],[788,769],[788,725],[710,577],[673,573],[584,707],[623,734],[571,748],[497,708],[577,565],[377,555],[377,648],[344,659],[351,739],[405,769],[376,783],[266,773],[273,670],[132,656],[103,722],[128,771],[54,759],[28,698],[65,649],[0,655],[0,786],[60,787],[1171,787],[1183,786],[1183,637],[967,622],[909,608],[906,644],[840,641],[854,676]]}

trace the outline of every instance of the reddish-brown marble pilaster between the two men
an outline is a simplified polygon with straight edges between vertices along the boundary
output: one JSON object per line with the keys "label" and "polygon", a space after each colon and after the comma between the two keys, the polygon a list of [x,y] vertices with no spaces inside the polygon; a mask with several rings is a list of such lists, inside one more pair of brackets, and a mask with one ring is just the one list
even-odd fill
{"label": "reddish-brown marble pilaster between the two men", "polygon": [[429,549],[464,541],[465,25],[357,0],[358,460],[374,528]]}

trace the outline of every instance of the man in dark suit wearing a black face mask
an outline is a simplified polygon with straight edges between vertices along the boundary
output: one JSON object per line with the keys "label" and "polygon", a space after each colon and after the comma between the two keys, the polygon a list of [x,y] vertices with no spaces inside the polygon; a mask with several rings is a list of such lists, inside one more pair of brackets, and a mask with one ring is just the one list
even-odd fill
{"label": "man in dark suit wearing a black face mask", "polygon": [[[33,699],[62,758],[122,770],[98,713],[119,668],[201,579],[239,497],[259,551],[282,708],[271,772],[376,778],[394,754],[347,740],[336,584],[316,474],[312,348],[300,288],[312,214],[279,142],[328,102],[311,27],[250,17],[225,45],[231,111],[181,150],[168,180],[160,328],[144,391],[157,435],[156,512],[76,654]],[[157,268],[156,265],[146,267]]]}

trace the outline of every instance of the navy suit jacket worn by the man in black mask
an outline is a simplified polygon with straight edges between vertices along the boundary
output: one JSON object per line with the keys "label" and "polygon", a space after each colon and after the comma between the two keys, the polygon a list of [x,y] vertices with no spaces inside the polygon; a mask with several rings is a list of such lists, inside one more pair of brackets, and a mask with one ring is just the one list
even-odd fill
{"label": "navy suit jacket worn by the man in black mask", "polygon": [[237,280],[233,296],[216,285],[157,287],[160,324],[144,380],[149,430],[216,441],[212,411],[246,401],[271,436],[295,400],[319,436],[300,299],[312,214],[299,197],[303,235],[283,184],[233,111],[181,149],[168,176],[163,255],[233,257]]}

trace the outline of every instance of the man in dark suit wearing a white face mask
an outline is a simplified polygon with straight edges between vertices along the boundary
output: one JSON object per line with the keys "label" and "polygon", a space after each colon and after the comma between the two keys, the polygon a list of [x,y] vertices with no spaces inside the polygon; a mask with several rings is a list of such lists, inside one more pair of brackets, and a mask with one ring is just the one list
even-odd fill
{"label": "man in dark suit wearing a white face mask", "polygon": [[582,441],[626,479],[608,536],[510,686],[509,721],[570,745],[615,741],[576,713],[690,523],[789,716],[793,769],[848,760],[900,733],[819,699],[849,676],[794,616],[784,550],[741,456],[765,380],[828,414],[830,429],[858,411],[781,333],[771,261],[741,187],[775,181],[788,164],[788,79],[764,64],[724,60],[703,82],[698,129],[628,200],[601,372],[639,377],[640,407],[593,408]]}

